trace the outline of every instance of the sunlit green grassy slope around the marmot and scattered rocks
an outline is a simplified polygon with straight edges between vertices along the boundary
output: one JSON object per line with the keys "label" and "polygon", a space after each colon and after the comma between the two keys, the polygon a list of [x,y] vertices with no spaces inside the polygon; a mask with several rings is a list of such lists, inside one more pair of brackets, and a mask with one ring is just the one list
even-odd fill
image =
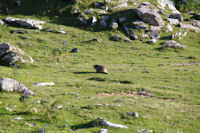
{"label": "sunlit green grassy slope around the marmot and scattered rocks", "polygon": [[[27,18],[27,15],[23,14],[13,16]],[[97,117],[129,127],[108,128],[110,133],[131,133],[136,129],[151,129],[156,133],[178,130],[184,133],[199,132],[199,65],[175,66],[176,63],[200,63],[198,33],[191,32],[184,40],[179,41],[187,46],[185,50],[158,51],[156,48],[165,40],[153,45],[141,41],[113,42],[109,39],[112,35],[124,34],[104,29],[95,32],[95,29],[79,28],[78,24],[71,26],[70,23],[74,22],[72,16],[62,22],[61,18],[66,16],[61,16],[59,21],[56,16],[53,20],[47,15],[41,17],[28,14],[28,17],[45,20],[45,29],[63,28],[67,34],[31,29],[23,29],[26,34],[12,34],[10,31],[22,28],[0,25],[0,42],[11,42],[35,60],[33,65],[17,70],[14,67],[0,66],[0,77],[16,79],[36,93],[36,96],[25,103],[18,101],[20,94],[0,93],[0,132],[36,132],[45,127],[47,132],[66,132],[70,127],[77,129],[77,133],[96,132],[102,127],[83,127]],[[101,38],[103,41],[83,42],[92,38]],[[67,51],[59,54],[63,41],[67,42]],[[79,48],[80,52],[70,53],[74,47]],[[94,73],[94,64],[104,64],[109,74]],[[147,70],[150,73],[144,73]],[[89,80],[91,78],[97,80]],[[131,83],[120,83],[126,80]],[[55,82],[56,85],[35,87],[35,82]],[[154,96],[149,98],[120,95],[121,92],[137,91],[140,88],[146,88],[154,93]],[[103,92],[118,95],[98,95]],[[34,103],[42,97],[47,101],[44,106]],[[121,99],[121,102],[114,102],[118,99]],[[47,108],[50,109],[52,104],[55,104],[55,107],[62,105],[63,109],[48,111]],[[13,112],[5,110],[6,106],[11,108],[12,105],[17,105]],[[32,108],[36,108],[38,112],[31,112]],[[126,112],[138,112],[139,118],[126,116]],[[17,116],[23,119],[15,120]],[[36,123],[37,126],[29,127],[26,123]],[[69,126],[64,130],[59,128],[66,123]]]}

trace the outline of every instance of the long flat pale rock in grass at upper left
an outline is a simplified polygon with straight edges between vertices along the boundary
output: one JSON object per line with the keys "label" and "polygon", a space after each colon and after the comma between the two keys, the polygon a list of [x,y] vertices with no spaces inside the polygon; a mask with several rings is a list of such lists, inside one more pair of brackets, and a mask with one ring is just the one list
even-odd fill
{"label": "long flat pale rock in grass at upper left", "polygon": [[7,17],[5,20],[8,23],[15,23],[24,27],[37,28],[39,30],[43,28],[41,24],[45,23],[44,21],[36,21],[32,19],[19,19],[19,18],[13,18],[13,17]]}

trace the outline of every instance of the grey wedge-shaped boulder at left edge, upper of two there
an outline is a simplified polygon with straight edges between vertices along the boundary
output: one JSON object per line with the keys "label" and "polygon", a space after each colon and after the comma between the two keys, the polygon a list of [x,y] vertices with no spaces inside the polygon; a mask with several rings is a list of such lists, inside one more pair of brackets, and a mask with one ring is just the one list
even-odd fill
{"label": "grey wedge-shaped boulder at left edge, upper of two there", "polygon": [[25,54],[21,49],[12,46],[10,43],[0,44],[0,64],[14,65],[16,63],[33,63],[32,57]]}

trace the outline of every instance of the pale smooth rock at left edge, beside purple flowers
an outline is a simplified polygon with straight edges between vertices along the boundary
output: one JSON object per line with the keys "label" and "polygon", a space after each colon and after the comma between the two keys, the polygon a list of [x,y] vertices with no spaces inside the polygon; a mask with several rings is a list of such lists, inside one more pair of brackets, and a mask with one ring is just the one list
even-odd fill
{"label": "pale smooth rock at left edge, beside purple flowers", "polygon": [[10,78],[1,78],[0,79],[0,90],[11,91],[11,92],[20,92],[23,93],[24,90],[30,95],[34,95],[34,93],[29,90],[25,85],[20,82],[10,79]]}

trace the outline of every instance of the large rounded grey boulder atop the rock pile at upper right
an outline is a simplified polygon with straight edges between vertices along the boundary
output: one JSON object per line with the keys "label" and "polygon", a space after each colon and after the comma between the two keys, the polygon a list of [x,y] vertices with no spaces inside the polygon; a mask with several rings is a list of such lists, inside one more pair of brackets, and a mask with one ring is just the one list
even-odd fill
{"label": "large rounded grey boulder atop the rock pile at upper right", "polygon": [[149,2],[143,2],[137,8],[137,14],[142,21],[153,26],[163,26],[164,23],[156,10],[152,9],[153,5]]}

